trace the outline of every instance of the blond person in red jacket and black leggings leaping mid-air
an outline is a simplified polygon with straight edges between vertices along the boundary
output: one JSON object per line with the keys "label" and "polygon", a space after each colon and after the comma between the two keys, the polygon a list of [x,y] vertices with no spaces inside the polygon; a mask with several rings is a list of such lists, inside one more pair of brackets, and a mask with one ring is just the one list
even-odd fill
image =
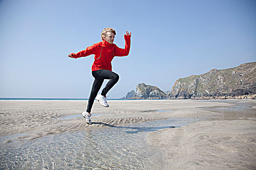
{"label": "blond person in red jacket and black leggings leaping mid-air", "polygon": [[[130,51],[131,33],[126,31],[126,34],[124,34],[124,49],[120,49],[116,44],[113,44],[115,35],[116,31],[113,28],[104,28],[101,32],[102,42],[98,42],[93,46],[87,47],[85,50],[79,51],[78,53],[70,53],[68,55],[71,58],[79,58],[94,54],[92,75],[95,80],[88,100],[87,110],[82,113],[82,116],[88,124],[92,124],[91,109],[95,98],[102,106],[108,107],[109,105],[106,100],[107,92],[118,82],[119,76],[117,73],[112,71],[111,61],[115,56],[128,55]],[[98,94],[104,79],[110,80],[103,88],[101,94]]]}

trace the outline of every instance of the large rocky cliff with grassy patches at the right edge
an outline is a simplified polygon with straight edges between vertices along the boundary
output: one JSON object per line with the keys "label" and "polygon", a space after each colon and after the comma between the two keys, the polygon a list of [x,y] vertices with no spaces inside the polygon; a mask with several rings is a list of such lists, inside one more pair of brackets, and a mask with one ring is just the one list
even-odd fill
{"label": "large rocky cliff with grassy patches at the right edge", "polygon": [[236,68],[211,69],[205,74],[180,78],[167,96],[170,99],[232,99],[254,94],[256,62]]}

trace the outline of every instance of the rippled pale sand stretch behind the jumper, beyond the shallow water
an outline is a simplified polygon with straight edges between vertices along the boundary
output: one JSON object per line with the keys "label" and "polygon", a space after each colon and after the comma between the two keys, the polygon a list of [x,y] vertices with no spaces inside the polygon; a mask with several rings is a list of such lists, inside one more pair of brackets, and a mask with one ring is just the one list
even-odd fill
{"label": "rippled pale sand stretch behind the jumper, beyond the shallow water", "polygon": [[[80,115],[86,110],[86,104],[87,101],[1,101],[0,136],[29,134],[19,136],[20,139],[28,140],[108,125],[172,117],[204,117],[216,115],[216,113],[197,109],[197,107],[229,105],[192,101],[109,101],[110,107],[105,108],[95,102],[92,109],[92,125],[86,124],[82,117],[61,119],[66,116]],[[161,112],[156,112],[158,110]],[[167,111],[163,112],[163,110]]]}

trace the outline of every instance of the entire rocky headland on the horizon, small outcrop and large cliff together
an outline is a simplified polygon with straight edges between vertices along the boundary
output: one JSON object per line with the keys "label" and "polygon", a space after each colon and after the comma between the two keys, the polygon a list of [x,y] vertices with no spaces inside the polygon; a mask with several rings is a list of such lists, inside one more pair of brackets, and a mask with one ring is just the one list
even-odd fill
{"label": "entire rocky headland on the horizon, small outcrop and large cliff together", "polygon": [[256,62],[179,78],[168,93],[141,83],[123,99],[256,99]]}

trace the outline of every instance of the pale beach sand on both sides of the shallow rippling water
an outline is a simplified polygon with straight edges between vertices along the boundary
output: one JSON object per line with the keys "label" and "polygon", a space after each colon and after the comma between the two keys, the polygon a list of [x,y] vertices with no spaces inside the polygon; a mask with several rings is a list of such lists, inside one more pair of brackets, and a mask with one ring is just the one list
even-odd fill
{"label": "pale beach sand on both sides of the shallow rippling water", "polygon": [[95,102],[93,124],[88,125],[80,115],[87,101],[0,101],[1,145],[152,120],[198,118],[196,123],[146,136],[145,141],[160,151],[161,169],[256,169],[255,100],[108,103],[110,107],[104,108]]}

